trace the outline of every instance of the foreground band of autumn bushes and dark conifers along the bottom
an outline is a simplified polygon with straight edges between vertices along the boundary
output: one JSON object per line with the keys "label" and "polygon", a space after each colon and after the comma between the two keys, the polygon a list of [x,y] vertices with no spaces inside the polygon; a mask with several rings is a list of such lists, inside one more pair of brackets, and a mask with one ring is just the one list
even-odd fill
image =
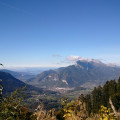
{"label": "foreground band of autumn bushes and dark conifers along the bottom", "polygon": [[41,103],[31,111],[24,104],[24,87],[9,97],[0,94],[0,120],[120,120],[120,78],[95,87],[91,94],[78,99],[61,99],[58,110],[45,109]]}

